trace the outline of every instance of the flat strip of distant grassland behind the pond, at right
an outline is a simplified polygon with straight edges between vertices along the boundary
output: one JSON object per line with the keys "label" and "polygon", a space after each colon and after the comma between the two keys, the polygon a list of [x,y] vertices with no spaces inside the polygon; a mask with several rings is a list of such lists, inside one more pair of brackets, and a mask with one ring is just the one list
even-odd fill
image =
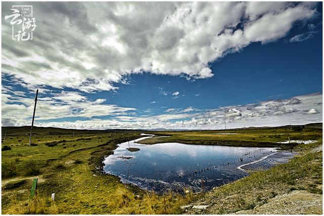
{"label": "flat strip of distant grassland behind the pond, at right", "polygon": [[[172,131],[152,132],[156,135],[150,139],[141,140],[141,144],[185,143],[198,145],[225,145],[249,147],[285,147],[278,144],[287,140],[317,140],[321,138],[321,125],[309,124],[303,126],[265,127],[228,129],[220,131]],[[292,147],[296,146],[293,143]]]}

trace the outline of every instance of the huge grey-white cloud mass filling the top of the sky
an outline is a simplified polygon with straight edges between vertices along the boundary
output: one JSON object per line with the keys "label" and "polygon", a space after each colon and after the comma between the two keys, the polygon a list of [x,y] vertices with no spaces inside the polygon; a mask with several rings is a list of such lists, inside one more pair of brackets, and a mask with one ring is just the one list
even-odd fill
{"label": "huge grey-white cloud mass filling the top of the sky", "polygon": [[38,25],[34,39],[21,49],[4,20],[12,3],[2,4],[2,72],[27,88],[46,85],[86,93],[116,90],[115,83],[144,71],[212,77],[211,62],[252,42],[283,37],[296,21],[316,13],[316,3],[281,2],[32,5]]}

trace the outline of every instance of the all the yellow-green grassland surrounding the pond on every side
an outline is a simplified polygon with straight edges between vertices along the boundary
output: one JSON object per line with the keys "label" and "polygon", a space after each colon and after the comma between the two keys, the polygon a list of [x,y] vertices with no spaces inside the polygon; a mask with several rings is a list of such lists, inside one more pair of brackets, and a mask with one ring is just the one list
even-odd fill
{"label": "all the yellow-green grassland surrounding the pond on every side", "polygon": [[[199,144],[215,144],[215,138],[219,143],[242,139],[245,142],[254,142],[255,145],[271,144],[288,140],[286,134],[289,134],[291,140],[319,140],[310,145],[289,145],[289,148],[295,148],[302,156],[288,164],[257,172],[209,194],[186,195],[171,192],[156,195],[122,184],[117,177],[102,174],[100,170],[104,156],[112,154],[118,143],[139,138],[139,132],[118,131],[115,135],[112,131],[75,131],[73,136],[71,130],[37,128],[32,139],[33,146],[28,147],[29,128],[3,128],[3,131],[5,129],[7,137],[2,148],[6,145],[11,149],[2,151],[4,214],[177,214],[183,212],[180,206],[192,202],[219,203],[214,204],[209,212],[228,213],[252,209],[265,203],[269,197],[292,190],[321,193],[321,153],[308,153],[311,148],[321,145],[322,134],[318,127],[306,126],[302,132],[290,128],[227,132],[152,132],[174,136],[172,139],[177,141],[172,142],[182,140],[190,144],[191,140]],[[237,134],[226,137],[217,133]],[[235,137],[236,135],[239,136]],[[172,140],[171,137],[164,139]],[[33,178],[38,178],[38,189],[37,196],[30,199]],[[55,193],[55,201],[50,200],[52,193]],[[260,196],[253,195],[259,193]]]}

